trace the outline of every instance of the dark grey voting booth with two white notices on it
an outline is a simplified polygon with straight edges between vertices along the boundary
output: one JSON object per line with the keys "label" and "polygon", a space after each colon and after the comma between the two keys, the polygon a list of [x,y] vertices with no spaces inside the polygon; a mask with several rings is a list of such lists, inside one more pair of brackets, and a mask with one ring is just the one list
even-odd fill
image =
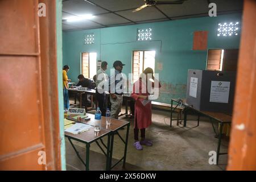
{"label": "dark grey voting booth with two white notices on it", "polygon": [[232,113],[236,72],[188,70],[187,104],[195,109]]}

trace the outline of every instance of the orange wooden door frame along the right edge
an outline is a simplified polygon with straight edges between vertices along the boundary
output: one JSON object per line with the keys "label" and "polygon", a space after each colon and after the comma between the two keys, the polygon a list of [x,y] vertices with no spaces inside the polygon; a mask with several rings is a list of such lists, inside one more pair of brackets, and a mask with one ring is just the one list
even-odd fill
{"label": "orange wooden door frame along the right edge", "polygon": [[243,4],[228,170],[256,170],[256,1]]}

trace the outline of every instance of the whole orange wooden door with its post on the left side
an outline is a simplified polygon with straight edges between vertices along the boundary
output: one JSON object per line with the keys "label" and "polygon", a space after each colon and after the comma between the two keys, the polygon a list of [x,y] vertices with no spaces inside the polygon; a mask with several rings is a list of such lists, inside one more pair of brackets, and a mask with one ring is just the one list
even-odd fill
{"label": "whole orange wooden door with its post on the left side", "polygon": [[61,169],[56,5],[40,2],[46,17],[36,0],[0,1],[1,170]]}

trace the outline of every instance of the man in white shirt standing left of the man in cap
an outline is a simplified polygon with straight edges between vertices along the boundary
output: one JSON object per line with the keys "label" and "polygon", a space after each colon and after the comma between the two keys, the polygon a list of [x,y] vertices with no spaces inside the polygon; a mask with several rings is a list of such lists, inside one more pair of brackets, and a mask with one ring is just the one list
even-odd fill
{"label": "man in white shirt standing left of the man in cap", "polygon": [[108,63],[106,61],[102,61],[101,68],[98,69],[96,76],[96,99],[98,101],[98,107],[100,107],[102,116],[106,116],[106,94],[104,89],[102,89],[102,84],[99,84],[101,82],[108,82],[108,75],[105,73],[106,69],[108,69]]}

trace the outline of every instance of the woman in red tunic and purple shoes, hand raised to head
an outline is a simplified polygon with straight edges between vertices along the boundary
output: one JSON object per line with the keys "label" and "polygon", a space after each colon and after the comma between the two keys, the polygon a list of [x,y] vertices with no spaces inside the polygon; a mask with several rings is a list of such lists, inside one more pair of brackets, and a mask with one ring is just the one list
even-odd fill
{"label": "woman in red tunic and purple shoes, hand raised to head", "polygon": [[[155,78],[153,76],[153,70],[151,68],[146,68],[142,75],[139,77],[139,80],[136,81],[133,85],[133,93],[131,94],[131,97],[135,100],[135,110],[134,110],[134,147],[137,150],[142,150],[142,145],[146,146],[152,146],[152,142],[150,140],[145,139],[145,133],[146,128],[151,125],[151,101],[148,102],[146,105],[143,105],[142,102],[144,100],[148,100],[148,96],[150,93],[148,93],[147,90],[147,84],[152,84],[152,88],[154,87],[161,87],[161,84],[159,82],[159,85],[154,85]],[[142,76],[146,77],[146,79],[142,79]],[[148,78],[148,74],[152,74],[152,80],[154,82],[150,81]],[[139,88],[135,88],[136,86],[139,86]],[[135,93],[136,90],[139,90],[139,93]],[[146,93],[142,93],[143,90],[146,90]],[[141,141],[139,141],[139,129],[141,130]]]}

